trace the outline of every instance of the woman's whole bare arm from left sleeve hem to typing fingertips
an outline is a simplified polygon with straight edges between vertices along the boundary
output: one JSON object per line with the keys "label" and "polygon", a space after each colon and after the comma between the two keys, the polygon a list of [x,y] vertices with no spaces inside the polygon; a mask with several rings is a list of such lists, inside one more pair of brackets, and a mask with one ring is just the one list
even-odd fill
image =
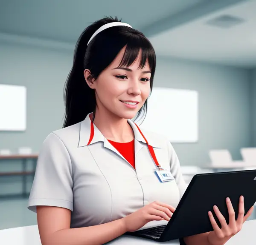
{"label": "woman's whole bare arm from left sleeve hem to typing fingertips", "polygon": [[155,201],[122,219],[84,228],[70,228],[71,211],[67,208],[37,206],[37,217],[42,245],[102,245],[150,221],[169,221],[174,211],[174,207]]}

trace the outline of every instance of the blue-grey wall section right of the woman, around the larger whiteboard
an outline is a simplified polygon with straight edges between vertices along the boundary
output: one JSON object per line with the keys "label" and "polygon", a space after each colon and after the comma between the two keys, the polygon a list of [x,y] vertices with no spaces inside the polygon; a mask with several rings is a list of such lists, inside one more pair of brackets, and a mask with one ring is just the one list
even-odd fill
{"label": "blue-grey wall section right of the woman, around the larger whiteboard", "polygon": [[234,160],[241,159],[239,149],[252,143],[249,71],[158,57],[154,81],[198,91],[199,140],[173,144],[182,165],[206,165],[214,148],[227,148]]}

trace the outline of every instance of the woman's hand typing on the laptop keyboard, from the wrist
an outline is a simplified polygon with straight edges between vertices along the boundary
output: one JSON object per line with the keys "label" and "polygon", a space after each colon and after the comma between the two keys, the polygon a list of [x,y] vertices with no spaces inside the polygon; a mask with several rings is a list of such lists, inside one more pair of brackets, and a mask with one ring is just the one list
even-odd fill
{"label": "woman's hand typing on the laptop keyboard, from the wrist", "polygon": [[162,202],[151,202],[150,204],[140,208],[132,214],[123,218],[127,231],[133,232],[142,228],[145,224],[153,220],[169,221],[174,213],[175,208]]}

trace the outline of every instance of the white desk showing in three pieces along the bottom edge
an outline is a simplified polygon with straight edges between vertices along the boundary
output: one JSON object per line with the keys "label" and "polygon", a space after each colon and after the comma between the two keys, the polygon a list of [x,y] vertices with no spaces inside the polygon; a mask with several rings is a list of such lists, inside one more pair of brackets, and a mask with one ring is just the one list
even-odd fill
{"label": "white desk showing in three pieces along the bottom edge", "polygon": [[[255,245],[256,220],[246,221],[242,230],[233,236],[225,245]],[[0,230],[0,244],[4,245],[41,245],[37,225]],[[178,240],[170,242],[154,242],[148,239],[133,236],[120,236],[108,245],[179,245]]]}

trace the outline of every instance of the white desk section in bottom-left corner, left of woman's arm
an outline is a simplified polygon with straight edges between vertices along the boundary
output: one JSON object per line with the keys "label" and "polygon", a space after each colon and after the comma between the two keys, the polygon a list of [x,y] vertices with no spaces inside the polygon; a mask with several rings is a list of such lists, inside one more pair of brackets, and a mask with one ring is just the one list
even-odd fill
{"label": "white desk section in bottom-left corner, left of woman's arm", "polygon": [[38,225],[0,230],[0,244],[3,245],[42,245]]}

